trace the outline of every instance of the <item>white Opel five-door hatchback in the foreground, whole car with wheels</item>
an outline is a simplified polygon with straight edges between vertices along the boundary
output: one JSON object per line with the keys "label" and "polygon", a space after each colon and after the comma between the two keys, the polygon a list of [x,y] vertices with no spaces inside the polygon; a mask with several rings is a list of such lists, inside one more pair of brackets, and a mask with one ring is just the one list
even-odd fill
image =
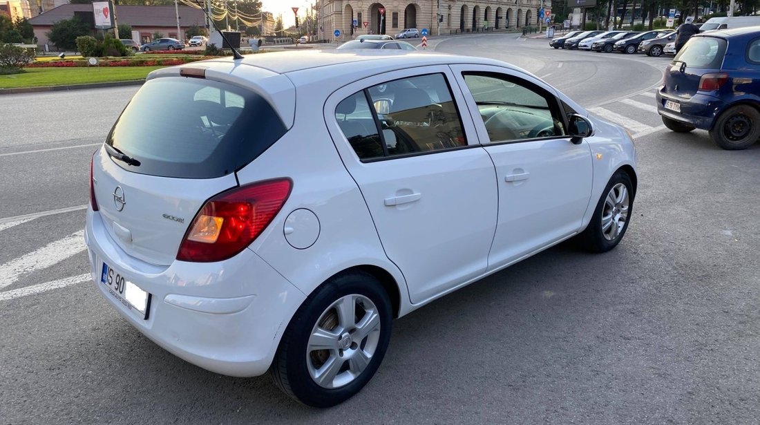
{"label": "white Opel five-door hatchback in the foreground, whole car with wheels", "polygon": [[153,71],[90,173],[113,308],[321,407],[372,378],[392,319],[572,236],[612,249],[637,182],[629,135],[534,75],[399,50]]}

